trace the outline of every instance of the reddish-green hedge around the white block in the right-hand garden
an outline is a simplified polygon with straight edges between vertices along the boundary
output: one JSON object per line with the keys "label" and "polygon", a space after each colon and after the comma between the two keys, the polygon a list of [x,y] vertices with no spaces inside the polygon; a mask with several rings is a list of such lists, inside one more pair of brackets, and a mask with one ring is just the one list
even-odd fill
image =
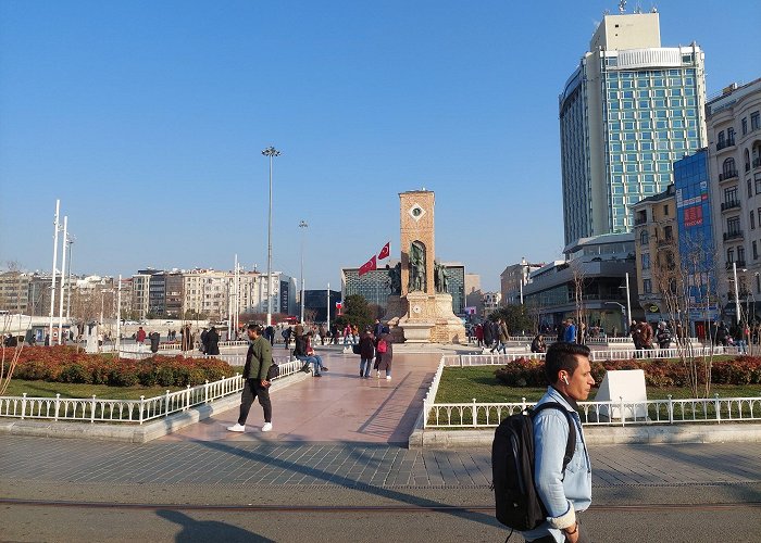
{"label": "reddish-green hedge around the white block in the right-hand garden", "polygon": [[[700,366],[700,363],[698,363]],[[591,375],[599,386],[606,372],[613,369],[641,369],[645,382],[650,387],[685,387],[687,372],[679,361],[664,358],[603,361],[591,363]],[[701,374],[701,372],[699,372]],[[517,358],[495,371],[499,381],[509,387],[546,387],[545,363],[531,358]],[[702,375],[700,375],[702,378]],[[711,364],[711,382],[715,384],[761,383],[761,357],[738,356],[714,361]]]}

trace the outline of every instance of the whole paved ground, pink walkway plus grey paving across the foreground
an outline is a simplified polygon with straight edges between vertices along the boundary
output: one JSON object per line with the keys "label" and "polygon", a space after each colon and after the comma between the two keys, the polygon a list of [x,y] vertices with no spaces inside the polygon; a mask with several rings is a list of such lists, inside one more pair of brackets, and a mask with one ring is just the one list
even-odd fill
{"label": "whole paved ground, pink walkway plus grey paving across the foreground", "polygon": [[[16,520],[45,512],[51,519],[71,522],[77,538],[95,533],[93,540],[123,541],[125,533],[134,532],[136,539],[160,534],[157,541],[202,541],[199,533],[223,533],[229,541],[302,541],[294,528],[294,512],[301,510],[298,518],[304,526],[328,530],[312,538],[315,541],[375,541],[372,534],[357,538],[353,531],[363,507],[390,507],[384,515],[403,520],[389,532],[392,541],[427,541],[424,533],[437,530],[442,533],[439,541],[503,540],[504,531],[494,520],[488,449],[407,449],[439,356],[400,353],[395,356],[394,379],[387,381],[360,379],[358,357],[332,351],[325,356],[329,370],[324,377],[273,394],[271,433],[260,431],[261,407],[254,404],[244,434],[225,429],[237,417],[233,408],[145,444],[4,435],[0,510],[8,522],[0,522],[0,540],[72,541],[35,528],[34,521]],[[609,533],[606,522],[633,521],[645,515],[635,513],[637,508],[656,506],[666,512],[670,506],[688,507],[689,513],[679,509],[660,521],[665,527],[687,525],[685,534],[701,516],[724,515],[725,523],[716,520],[715,530],[726,530],[729,518],[729,526],[743,526],[737,538],[726,541],[751,541],[748,530],[754,530],[753,525],[761,529],[761,443],[599,445],[590,446],[590,455],[589,515],[600,523],[598,535]],[[66,513],[62,504],[80,509]],[[103,504],[124,510],[98,514]],[[734,517],[714,510],[727,504],[751,508],[735,510]],[[210,513],[208,507],[228,513]],[[279,512],[265,516],[277,522],[259,523],[254,530],[250,522],[261,519],[261,507]],[[698,513],[695,507],[709,509]],[[246,510],[250,516],[240,517]],[[320,512],[340,522],[329,523]],[[101,515],[114,527],[124,526],[103,538],[97,528],[86,532],[78,526],[80,515]],[[228,522],[215,523],[222,516]],[[409,525],[413,518],[419,531]],[[177,533],[167,528],[180,530],[180,525]],[[616,533],[612,525],[610,533]],[[3,530],[9,530],[8,536]]]}

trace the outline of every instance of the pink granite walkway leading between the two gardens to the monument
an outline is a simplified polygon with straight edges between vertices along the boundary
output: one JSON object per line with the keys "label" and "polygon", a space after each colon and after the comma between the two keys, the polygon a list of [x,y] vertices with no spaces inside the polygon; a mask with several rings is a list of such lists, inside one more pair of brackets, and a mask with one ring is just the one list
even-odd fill
{"label": "pink granite walkway leading between the two gardens to the monument", "polygon": [[166,435],[166,441],[266,441],[266,442],[407,442],[422,401],[431,384],[438,353],[394,355],[392,379],[359,377],[359,356],[319,353],[329,368],[311,378],[273,392],[273,431],[262,433],[262,408],[254,402],[246,433],[233,433],[238,409]]}

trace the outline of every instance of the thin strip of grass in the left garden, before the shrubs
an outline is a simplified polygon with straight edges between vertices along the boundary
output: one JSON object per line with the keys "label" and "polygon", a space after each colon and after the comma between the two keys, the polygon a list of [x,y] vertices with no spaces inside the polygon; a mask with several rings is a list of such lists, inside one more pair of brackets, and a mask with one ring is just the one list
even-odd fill
{"label": "thin strip of grass in the left garden, before the shrubs", "polygon": [[24,379],[11,379],[11,384],[5,391],[7,396],[21,396],[26,392],[27,396],[35,397],[98,397],[109,400],[140,400],[140,396],[160,396],[169,389],[171,392],[182,390],[184,387],[109,387],[108,384],[80,384],[70,382],[27,381]]}

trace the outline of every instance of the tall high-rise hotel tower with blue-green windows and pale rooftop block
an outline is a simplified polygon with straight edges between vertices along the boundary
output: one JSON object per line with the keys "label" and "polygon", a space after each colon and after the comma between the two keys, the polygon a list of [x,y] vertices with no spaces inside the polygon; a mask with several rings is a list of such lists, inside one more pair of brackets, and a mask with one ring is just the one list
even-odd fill
{"label": "tall high-rise hotel tower with blue-green windows and pale rooftop block", "polygon": [[703,52],[661,47],[658,13],[606,15],[560,96],[566,245],[632,231],[631,206],[706,146]]}

